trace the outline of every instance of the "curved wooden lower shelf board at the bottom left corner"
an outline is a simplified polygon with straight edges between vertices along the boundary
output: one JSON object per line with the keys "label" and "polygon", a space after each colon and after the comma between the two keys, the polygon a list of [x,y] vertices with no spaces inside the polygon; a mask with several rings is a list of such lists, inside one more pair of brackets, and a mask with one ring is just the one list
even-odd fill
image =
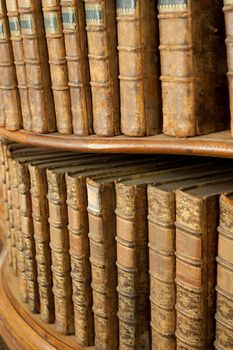
{"label": "curved wooden lower shelf board at the bottom left corner", "polygon": [[8,267],[7,252],[0,255],[0,334],[12,350],[92,350],[74,336],[63,336],[46,325],[20,301],[17,279]]}

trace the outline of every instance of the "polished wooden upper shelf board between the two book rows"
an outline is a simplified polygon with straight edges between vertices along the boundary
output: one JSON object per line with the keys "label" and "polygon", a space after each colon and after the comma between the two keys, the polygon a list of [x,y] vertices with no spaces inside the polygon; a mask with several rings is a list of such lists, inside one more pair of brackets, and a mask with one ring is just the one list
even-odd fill
{"label": "polished wooden upper shelf board between the two book rows", "polygon": [[78,137],[75,135],[35,134],[0,128],[0,136],[25,144],[62,150],[98,153],[190,154],[233,158],[230,130],[193,138],[174,138],[163,134],[150,137]]}

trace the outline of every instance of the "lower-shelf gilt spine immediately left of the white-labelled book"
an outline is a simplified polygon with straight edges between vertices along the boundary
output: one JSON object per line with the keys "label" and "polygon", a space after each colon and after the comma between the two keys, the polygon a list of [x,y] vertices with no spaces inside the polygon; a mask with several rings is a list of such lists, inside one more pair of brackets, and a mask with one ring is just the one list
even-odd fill
{"label": "lower-shelf gilt spine immediately left of the white-labelled book", "polygon": [[94,344],[86,179],[67,175],[67,209],[73,286],[75,335],[79,344]]}

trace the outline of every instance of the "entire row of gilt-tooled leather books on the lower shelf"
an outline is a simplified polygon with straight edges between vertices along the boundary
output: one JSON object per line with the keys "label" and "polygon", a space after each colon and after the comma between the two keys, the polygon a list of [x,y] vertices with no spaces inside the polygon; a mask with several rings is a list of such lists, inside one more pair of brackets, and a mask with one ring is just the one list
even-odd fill
{"label": "entire row of gilt-tooled leather books on the lower shelf", "polygon": [[231,160],[1,147],[32,312],[96,349],[232,350]]}

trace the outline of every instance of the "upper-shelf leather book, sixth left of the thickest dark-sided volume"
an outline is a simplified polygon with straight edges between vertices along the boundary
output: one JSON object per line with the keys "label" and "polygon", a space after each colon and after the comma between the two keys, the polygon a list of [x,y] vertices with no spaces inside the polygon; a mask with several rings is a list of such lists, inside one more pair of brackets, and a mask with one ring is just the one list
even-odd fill
{"label": "upper-shelf leather book, sixth left of the thickest dark-sided volume", "polygon": [[56,130],[41,0],[17,0],[23,39],[32,131]]}

